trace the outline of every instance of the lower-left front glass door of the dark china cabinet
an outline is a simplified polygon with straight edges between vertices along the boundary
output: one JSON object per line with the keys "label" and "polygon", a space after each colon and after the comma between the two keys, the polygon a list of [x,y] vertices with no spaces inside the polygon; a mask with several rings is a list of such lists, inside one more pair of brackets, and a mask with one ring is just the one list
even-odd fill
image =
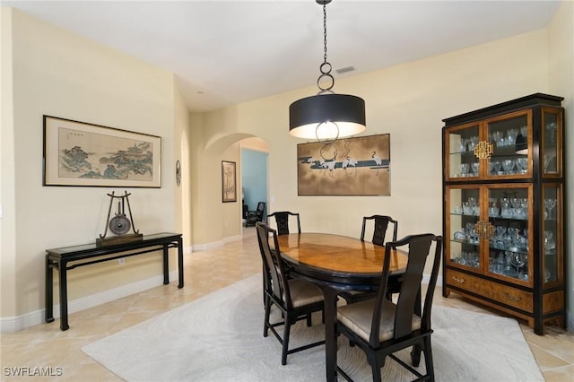
{"label": "lower-left front glass door of the dark china cabinet", "polygon": [[479,233],[475,229],[480,220],[481,197],[479,187],[448,187],[448,243],[451,265],[480,268]]}

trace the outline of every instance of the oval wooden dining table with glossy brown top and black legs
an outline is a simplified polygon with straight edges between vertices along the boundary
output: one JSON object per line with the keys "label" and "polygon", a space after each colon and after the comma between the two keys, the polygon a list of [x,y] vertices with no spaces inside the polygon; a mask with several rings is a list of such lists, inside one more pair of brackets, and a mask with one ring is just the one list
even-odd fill
{"label": "oval wooden dining table with glossy brown top and black legs", "polygon": [[[291,267],[291,276],[313,282],[323,291],[326,380],[336,381],[337,295],[342,291],[378,290],[385,247],[328,233],[291,233],[279,235],[277,241],[283,260]],[[392,256],[391,271],[399,277],[408,257],[399,252]]]}

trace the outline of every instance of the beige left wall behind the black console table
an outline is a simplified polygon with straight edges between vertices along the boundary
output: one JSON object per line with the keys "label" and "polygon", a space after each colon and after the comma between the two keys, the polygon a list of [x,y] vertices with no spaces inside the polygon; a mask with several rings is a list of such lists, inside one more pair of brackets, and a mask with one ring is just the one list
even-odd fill
{"label": "beige left wall behind the black console table", "polygon": [[[181,226],[176,223],[181,196],[174,191],[175,152],[180,155],[174,136],[179,139],[178,132],[187,129],[188,114],[173,74],[25,13],[3,7],[2,20],[4,319],[43,313],[44,250],[94,242],[106,224],[107,194],[114,190],[42,187],[42,116],[161,136],[162,187],[127,189],[135,228],[153,233]],[[6,79],[12,87],[9,81],[4,87]],[[159,274],[159,254],[128,258],[126,265],[78,268],[69,274],[69,300]]]}

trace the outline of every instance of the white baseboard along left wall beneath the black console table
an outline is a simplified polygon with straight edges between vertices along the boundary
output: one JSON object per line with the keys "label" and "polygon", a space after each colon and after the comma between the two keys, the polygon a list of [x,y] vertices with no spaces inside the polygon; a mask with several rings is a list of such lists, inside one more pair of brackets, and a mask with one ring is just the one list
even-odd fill
{"label": "white baseboard along left wall beneath the black console table", "polygon": [[[178,271],[170,272],[170,281],[175,280],[178,280]],[[83,297],[82,299],[68,301],[68,314],[79,312],[87,308],[97,307],[98,305],[106,302],[121,299],[131,294],[139,293],[140,291],[147,291],[160,285],[163,285],[163,274],[117,287],[109,291],[101,291],[100,293]],[[45,313],[45,310],[41,309],[18,317],[2,317],[0,318],[0,332],[13,333],[18,330],[29,328],[30,326],[42,324],[45,322]],[[54,318],[59,317],[60,305],[58,304],[54,305]]]}

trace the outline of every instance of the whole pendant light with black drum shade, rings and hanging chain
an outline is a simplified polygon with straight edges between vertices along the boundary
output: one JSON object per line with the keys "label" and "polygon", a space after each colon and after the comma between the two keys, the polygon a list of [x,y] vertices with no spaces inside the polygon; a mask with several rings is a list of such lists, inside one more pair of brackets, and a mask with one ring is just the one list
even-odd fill
{"label": "whole pendant light with black drum shade, rings and hanging chain", "polygon": [[[365,101],[348,94],[332,91],[335,78],[326,60],[326,4],[331,0],[316,0],[323,5],[323,63],[317,79],[317,95],[296,100],[289,107],[289,134],[298,138],[335,142],[338,138],[357,135],[365,126]],[[325,83],[326,82],[326,83]]]}

